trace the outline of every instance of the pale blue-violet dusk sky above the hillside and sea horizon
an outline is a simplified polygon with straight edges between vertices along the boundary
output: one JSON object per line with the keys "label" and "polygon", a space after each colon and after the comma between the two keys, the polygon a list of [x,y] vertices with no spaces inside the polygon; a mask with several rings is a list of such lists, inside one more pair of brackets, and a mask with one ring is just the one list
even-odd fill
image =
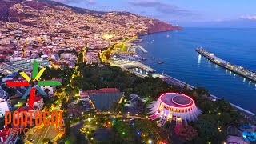
{"label": "pale blue-violet dusk sky above the hillside and sea horizon", "polygon": [[182,26],[256,24],[255,0],[55,0],[91,10],[129,11]]}

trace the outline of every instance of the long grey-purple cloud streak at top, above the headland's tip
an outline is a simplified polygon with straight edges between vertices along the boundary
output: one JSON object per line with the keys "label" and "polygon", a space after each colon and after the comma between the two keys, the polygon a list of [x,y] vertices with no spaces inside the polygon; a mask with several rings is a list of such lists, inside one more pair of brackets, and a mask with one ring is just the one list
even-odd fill
{"label": "long grey-purple cloud streak at top, above the headland's tip", "polygon": [[194,14],[190,10],[182,10],[178,6],[167,4],[164,2],[157,2],[153,0],[143,0],[137,2],[129,2],[133,6],[141,6],[146,8],[154,8],[162,14]]}

